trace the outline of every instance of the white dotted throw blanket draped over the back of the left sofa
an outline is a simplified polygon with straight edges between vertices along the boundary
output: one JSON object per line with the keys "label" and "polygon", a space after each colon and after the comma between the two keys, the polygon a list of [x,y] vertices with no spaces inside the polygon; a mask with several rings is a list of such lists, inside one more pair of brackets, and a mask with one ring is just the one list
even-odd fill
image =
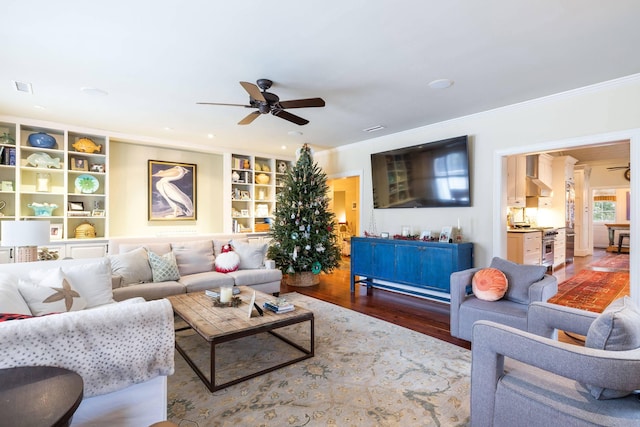
{"label": "white dotted throw blanket draped over the back of the left sofa", "polygon": [[12,320],[0,323],[0,368],[66,368],[97,396],[173,374],[174,338],[168,300]]}

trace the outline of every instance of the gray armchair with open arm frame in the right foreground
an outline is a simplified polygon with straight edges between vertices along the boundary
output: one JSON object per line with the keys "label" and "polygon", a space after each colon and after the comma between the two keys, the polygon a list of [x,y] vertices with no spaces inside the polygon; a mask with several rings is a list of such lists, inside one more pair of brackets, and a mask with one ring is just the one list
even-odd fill
{"label": "gray armchair with open arm frame in the right foreground", "polygon": [[[529,308],[531,332],[477,322],[473,328],[471,425],[640,426],[638,394],[607,400],[593,397],[594,389],[625,393],[640,389],[640,348],[611,351],[549,338],[556,328],[592,334],[591,325],[598,323],[598,316],[534,302]],[[632,323],[640,323],[637,316]],[[633,334],[624,332],[619,337],[631,347],[639,345],[638,337],[629,335]],[[589,339],[587,336],[587,344]],[[584,384],[590,384],[589,388]]]}

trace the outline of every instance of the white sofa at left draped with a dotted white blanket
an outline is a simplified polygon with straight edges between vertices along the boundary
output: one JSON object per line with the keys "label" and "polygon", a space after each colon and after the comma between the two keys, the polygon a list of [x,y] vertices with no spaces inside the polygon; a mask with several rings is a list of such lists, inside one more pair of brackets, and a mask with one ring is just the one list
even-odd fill
{"label": "white sofa at left draped with a dotted white blanket", "polygon": [[[0,312],[43,310],[34,295],[53,293],[47,285],[60,278],[80,295],[72,309],[81,300],[86,308],[0,322],[0,368],[58,366],[80,374],[84,399],[73,426],[139,427],[166,420],[167,375],[174,371],[169,301],[116,303],[108,258],[40,261],[0,265]],[[57,304],[53,311],[65,311],[63,299],[51,304]]]}

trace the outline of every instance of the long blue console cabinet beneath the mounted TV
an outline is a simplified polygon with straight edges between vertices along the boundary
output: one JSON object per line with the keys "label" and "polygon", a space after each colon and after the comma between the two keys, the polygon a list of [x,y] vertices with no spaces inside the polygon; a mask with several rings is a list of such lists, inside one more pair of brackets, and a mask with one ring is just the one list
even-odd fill
{"label": "long blue console cabinet beneath the mounted TV", "polygon": [[468,242],[351,238],[351,292],[375,280],[376,287],[449,301],[449,276],[472,266]]}

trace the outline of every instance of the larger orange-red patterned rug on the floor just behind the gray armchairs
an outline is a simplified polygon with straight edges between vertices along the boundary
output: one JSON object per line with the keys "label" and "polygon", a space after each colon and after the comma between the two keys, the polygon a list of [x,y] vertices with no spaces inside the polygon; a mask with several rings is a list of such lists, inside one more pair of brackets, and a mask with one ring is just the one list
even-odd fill
{"label": "larger orange-red patterned rug on the floor just behind the gray armchairs", "polygon": [[549,302],[601,313],[623,295],[630,295],[629,273],[582,270],[560,283]]}

